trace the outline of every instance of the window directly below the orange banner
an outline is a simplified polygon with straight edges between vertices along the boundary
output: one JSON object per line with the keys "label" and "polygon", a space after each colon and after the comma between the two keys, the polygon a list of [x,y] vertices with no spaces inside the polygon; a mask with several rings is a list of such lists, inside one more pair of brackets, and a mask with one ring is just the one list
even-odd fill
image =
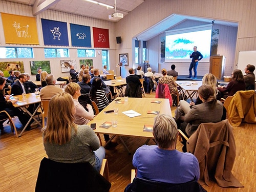
{"label": "window directly below the orange banner", "polygon": [[33,58],[32,48],[0,48],[0,58]]}

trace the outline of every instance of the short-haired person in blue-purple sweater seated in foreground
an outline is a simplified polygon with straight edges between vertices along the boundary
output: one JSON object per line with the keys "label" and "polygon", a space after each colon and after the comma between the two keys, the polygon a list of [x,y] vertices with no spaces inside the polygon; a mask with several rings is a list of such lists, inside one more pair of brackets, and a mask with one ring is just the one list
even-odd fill
{"label": "short-haired person in blue-purple sweater seated in foreground", "polygon": [[178,130],[173,117],[158,115],[153,125],[153,136],[158,145],[143,145],[133,156],[138,178],[164,183],[199,180],[197,158],[176,150]]}

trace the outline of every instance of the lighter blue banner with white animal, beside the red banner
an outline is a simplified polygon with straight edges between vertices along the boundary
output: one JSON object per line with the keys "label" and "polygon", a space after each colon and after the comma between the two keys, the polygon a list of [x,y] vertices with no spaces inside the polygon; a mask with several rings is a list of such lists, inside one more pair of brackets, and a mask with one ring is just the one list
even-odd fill
{"label": "lighter blue banner with white animal, beside the red banner", "polygon": [[92,47],[89,26],[70,24],[71,44],[78,47]]}

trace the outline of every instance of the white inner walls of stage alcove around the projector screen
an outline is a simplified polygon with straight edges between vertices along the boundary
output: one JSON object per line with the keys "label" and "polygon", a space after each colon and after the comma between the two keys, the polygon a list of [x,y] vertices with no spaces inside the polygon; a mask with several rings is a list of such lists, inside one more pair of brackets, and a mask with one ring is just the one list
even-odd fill
{"label": "white inner walls of stage alcove around the projector screen", "polygon": [[[203,24],[198,22],[193,23],[189,21],[189,22],[184,22],[181,25],[177,25],[175,29],[190,27],[191,23],[194,26]],[[234,59],[235,59],[235,53],[236,53],[236,41],[237,41],[238,28],[223,26],[223,25],[214,25],[213,29],[220,30],[217,54],[224,55],[226,57],[226,67],[225,67],[224,75],[229,75],[233,71],[233,67],[235,64]],[[166,68],[167,70],[170,70],[170,66],[172,64],[175,64],[176,71],[178,71],[180,75],[188,75],[188,68],[189,68],[190,62],[183,62],[183,63],[161,62],[160,40],[162,36],[165,36],[165,33],[162,33],[147,41],[147,47],[150,50],[148,60],[151,63],[151,67],[156,69],[156,71],[160,73],[161,69]],[[198,51],[200,51],[200,49],[198,49]],[[160,65],[158,65],[158,63],[160,63]],[[209,62],[199,61],[197,71],[198,71],[198,75],[201,75],[201,76],[203,76],[205,73],[209,73]]]}

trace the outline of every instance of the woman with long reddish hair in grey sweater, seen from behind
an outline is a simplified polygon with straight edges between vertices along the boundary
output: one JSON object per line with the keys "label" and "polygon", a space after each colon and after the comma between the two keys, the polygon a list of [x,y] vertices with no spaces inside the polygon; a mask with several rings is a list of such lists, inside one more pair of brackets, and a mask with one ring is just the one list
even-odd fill
{"label": "woman with long reddish hair in grey sweater, seen from behind", "polygon": [[47,125],[42,129],[46,153],[53,161],[89,162],[99,171],[105,149],[91,127],[74,123],[75,112],[68,93],[60,93],[50,100]]}

